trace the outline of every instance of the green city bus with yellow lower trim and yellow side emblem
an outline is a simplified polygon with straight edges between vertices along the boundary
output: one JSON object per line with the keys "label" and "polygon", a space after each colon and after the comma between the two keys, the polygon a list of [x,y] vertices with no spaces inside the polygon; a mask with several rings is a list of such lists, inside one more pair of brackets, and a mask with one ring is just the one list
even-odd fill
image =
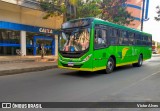
{"label": "green city bus with yellow lower trim and yellow side emblem", "polygon": [[152,35],[97,18],[62,24],[58,67],[80,71],[106,70],[133,64],[140,67],[152,55]]}

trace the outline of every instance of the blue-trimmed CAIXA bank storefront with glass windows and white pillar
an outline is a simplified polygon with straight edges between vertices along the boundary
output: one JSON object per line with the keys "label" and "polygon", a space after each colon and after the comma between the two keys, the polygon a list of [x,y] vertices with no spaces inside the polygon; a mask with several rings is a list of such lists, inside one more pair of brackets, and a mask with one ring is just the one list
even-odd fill
{"label": "blue-trimmed CAIXA bank storefront with glass windows and white pillar", "polygon": [[46,55],[55,55],[53,29],[0,21],[0,56],[17,55],[17,49],[22,55],[38,55],[40,44],[44,44]]}

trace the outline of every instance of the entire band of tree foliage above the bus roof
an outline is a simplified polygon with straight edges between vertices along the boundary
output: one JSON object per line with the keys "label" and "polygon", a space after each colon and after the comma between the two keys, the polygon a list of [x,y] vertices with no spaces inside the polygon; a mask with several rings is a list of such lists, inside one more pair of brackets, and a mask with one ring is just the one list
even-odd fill
{"label": "entire band of tree foliage above the bus roof", "polygon": [[134,18],[131,13],[126,11],[126,0],[41,0],[42,10],[47,12],[48,17],[63,15],[64,21],[85,18],[98,17],[121,25],[128,25]]}

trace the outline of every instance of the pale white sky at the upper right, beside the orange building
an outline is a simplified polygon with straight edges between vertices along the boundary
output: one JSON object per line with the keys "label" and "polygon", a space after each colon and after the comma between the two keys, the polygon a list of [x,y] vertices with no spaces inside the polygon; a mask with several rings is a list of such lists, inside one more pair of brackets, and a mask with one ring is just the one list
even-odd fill
{"label": "pale white sky at the upper right, beside the orange building", "polygon": [[143,31],[152,34],[152,39],[160,42],[160,21],[157,22],[154,17],[157,16],[156,6],[160,6],[160,0],[150,0],[149,3],[149,20],[144,22]]}

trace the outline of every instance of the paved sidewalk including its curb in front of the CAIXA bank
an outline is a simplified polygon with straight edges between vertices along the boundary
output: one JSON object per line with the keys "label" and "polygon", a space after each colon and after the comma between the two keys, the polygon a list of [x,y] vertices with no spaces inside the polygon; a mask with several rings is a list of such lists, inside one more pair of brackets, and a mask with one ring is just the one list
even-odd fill
{"label": "paved sidewalk including its curb in front of the CAIXA bank", "polygon": [[57,68],[57,57],[0,56],[0,76]]}

